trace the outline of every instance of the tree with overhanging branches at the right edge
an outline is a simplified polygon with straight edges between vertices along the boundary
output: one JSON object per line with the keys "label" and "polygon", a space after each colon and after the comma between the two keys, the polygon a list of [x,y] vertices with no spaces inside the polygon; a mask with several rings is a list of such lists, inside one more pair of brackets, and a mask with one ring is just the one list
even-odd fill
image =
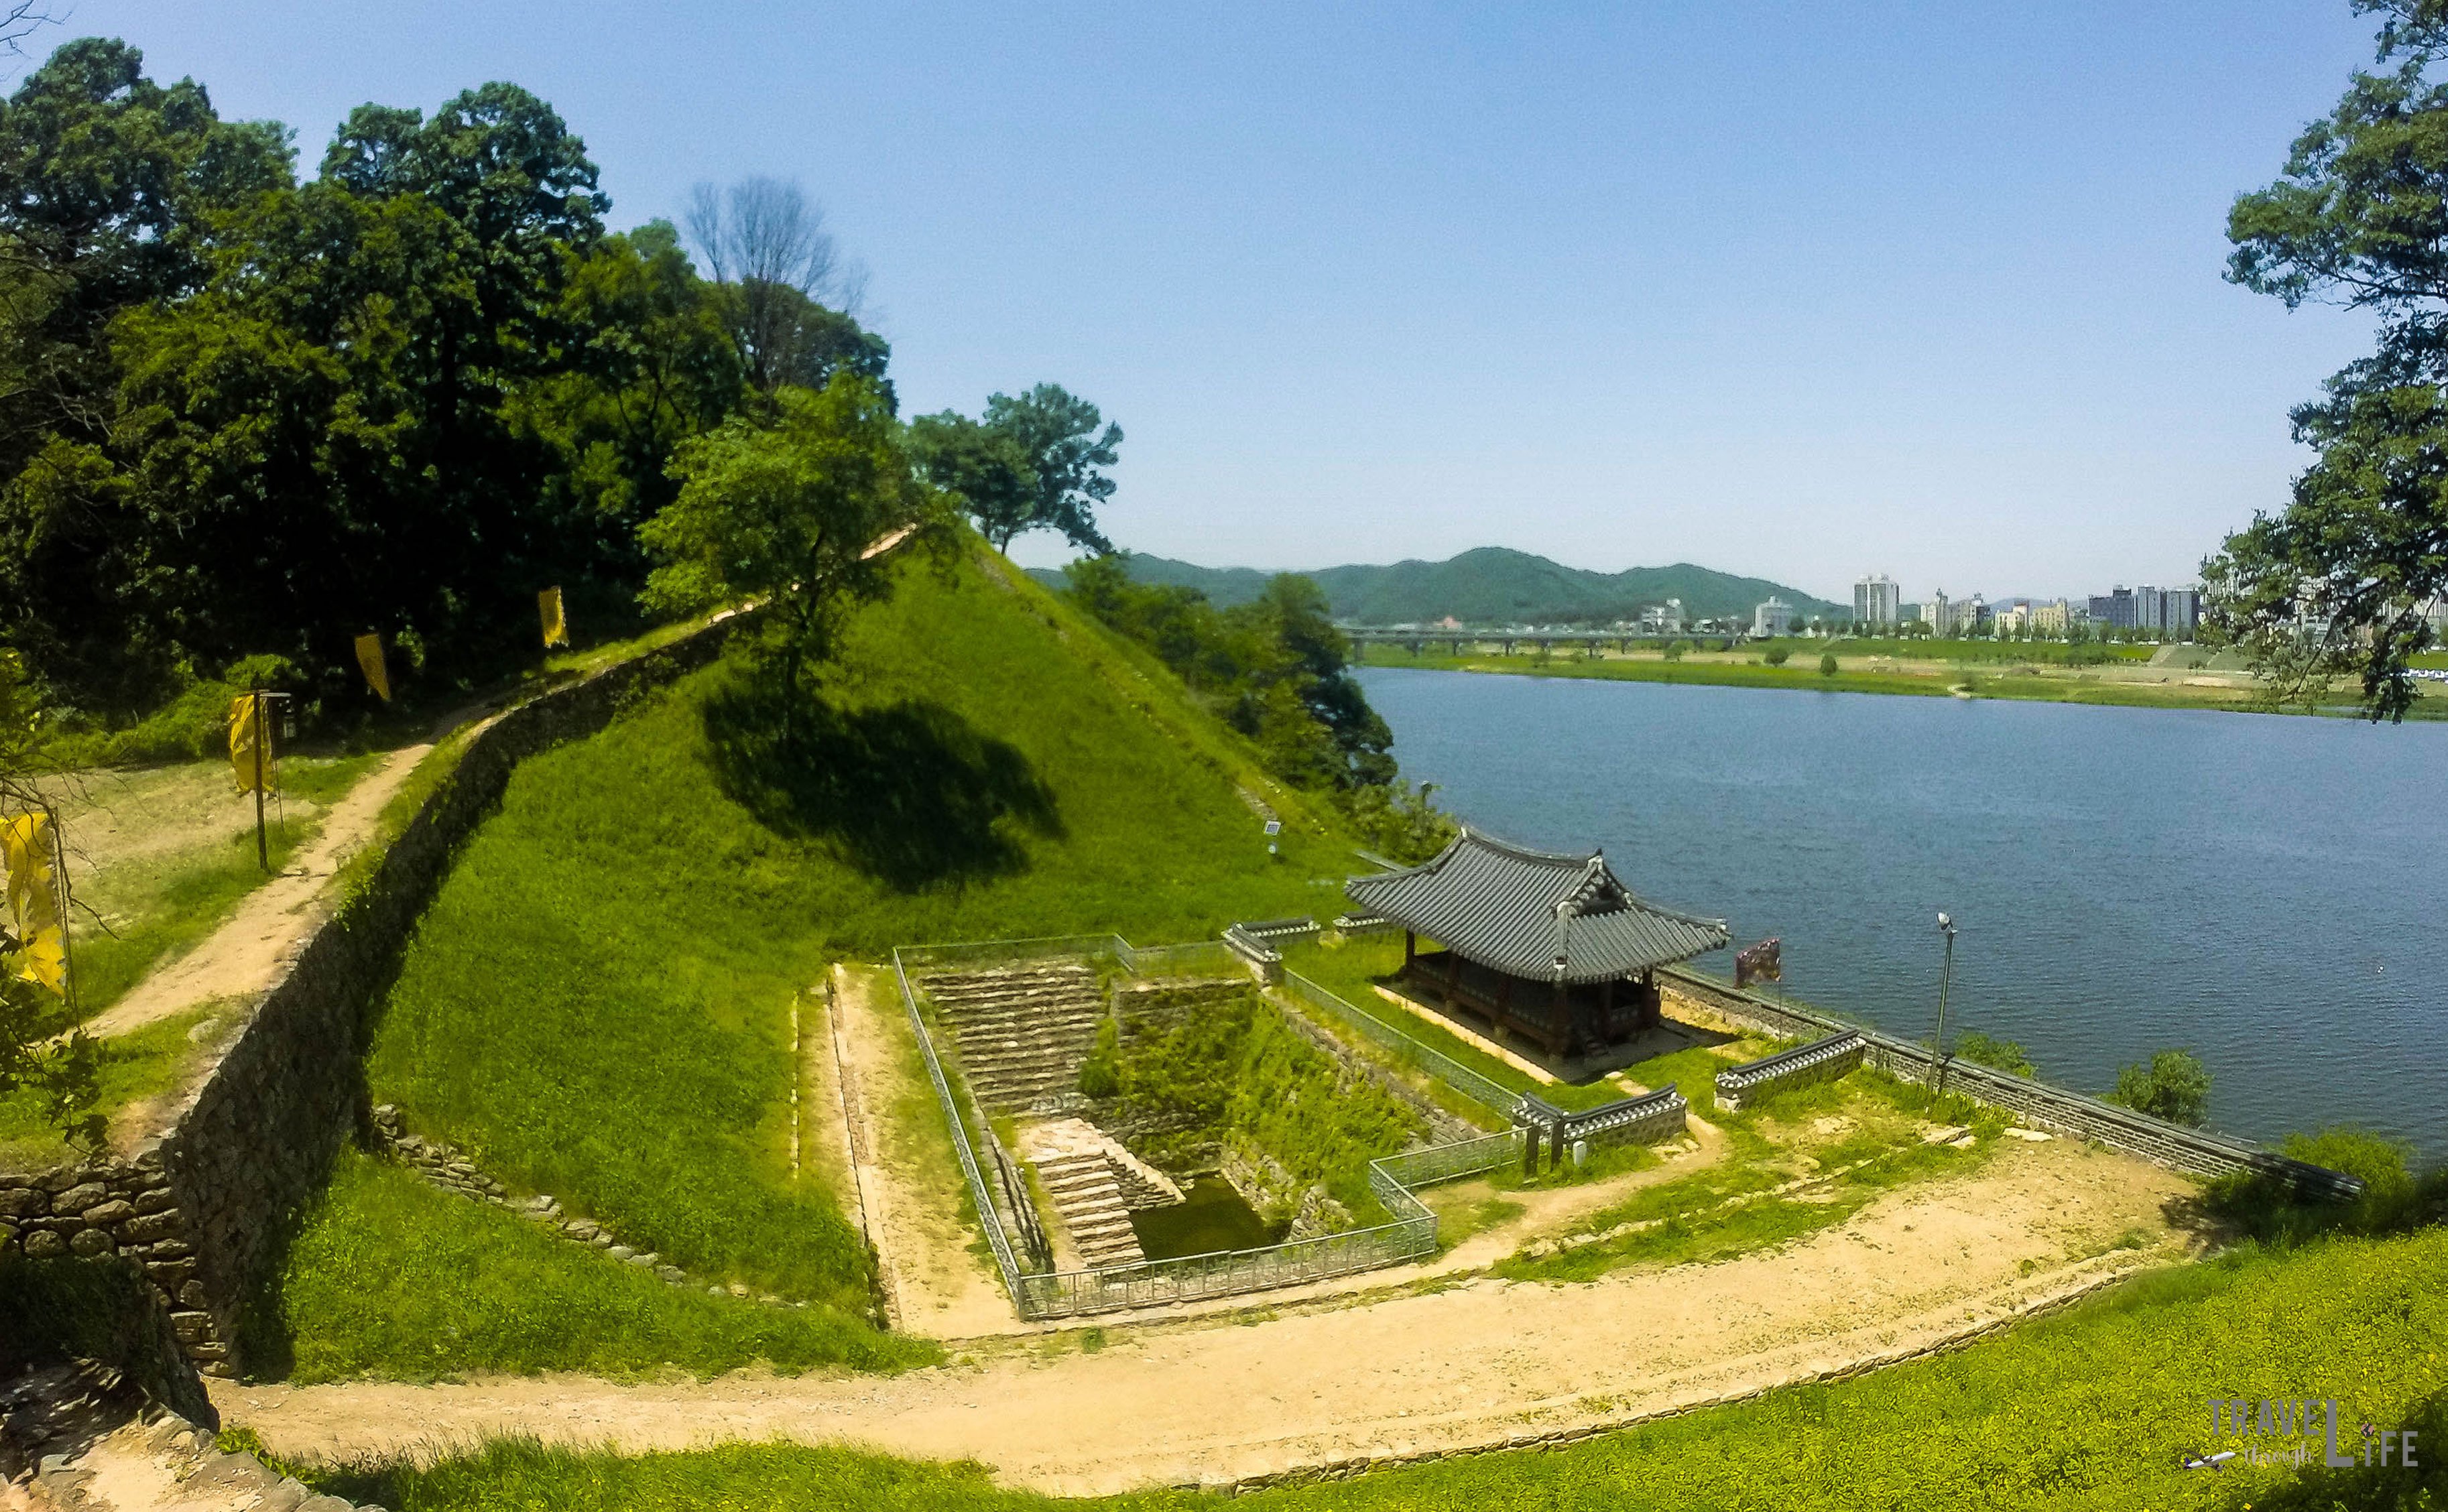
{"label": "tree with overhanging branches at the right edge", "polygon": [[2228,279],[2296,308],[2370,311],[2377,350],[2294,411],[2318,460],[2284,511],[2203,563],[2208,621],[2274,697],[2313,702],[2357,675],[2372,719],[2414,705],[2409,658],[2448,595],[2448,51],[2441,0],[2355,0],[2382,15],[2382,73],[2357,71],[2282,176],[2235,201]]}

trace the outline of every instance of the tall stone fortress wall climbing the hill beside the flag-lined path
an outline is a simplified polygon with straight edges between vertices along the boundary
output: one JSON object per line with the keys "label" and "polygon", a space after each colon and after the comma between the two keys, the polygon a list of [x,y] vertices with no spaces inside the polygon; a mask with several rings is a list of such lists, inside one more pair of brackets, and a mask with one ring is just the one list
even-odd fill
{"label": "tall stone fortress wall climbing the hill beside the flag-lined path", "polygon": [[240,1368],[235,1319],[274,1260],[284,1216],[321,1189],[340,1145],[367,1133],[367,1010],[458,844],[521,761],[605,729],[654,687],[710,663],[749,621],[717,619],[477,727],[365,886],[323,903],[328,917],[130,1155],[0,1177],[0,1248],[130,1255],[174,1304],[171,1324],[196,1363],[208,1375]]}

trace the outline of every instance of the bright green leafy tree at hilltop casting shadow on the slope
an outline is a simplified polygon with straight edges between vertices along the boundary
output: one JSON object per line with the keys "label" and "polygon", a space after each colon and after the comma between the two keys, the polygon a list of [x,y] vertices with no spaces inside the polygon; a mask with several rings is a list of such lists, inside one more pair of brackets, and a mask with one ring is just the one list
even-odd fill
{"label": "bright green leafy tree at hilltop casting shadow on the slope", "polygon": [[774,416],[734,416],[681,445],[678,497],[639,541],[661,563],[644,602],[695,614],[764,599],[783,687],[835,653],[849,612],[891,592],[894,560],[869,548],[940,536],[942,499],[918,480],[879,387],[837,372],[820,391],[781,389]]}

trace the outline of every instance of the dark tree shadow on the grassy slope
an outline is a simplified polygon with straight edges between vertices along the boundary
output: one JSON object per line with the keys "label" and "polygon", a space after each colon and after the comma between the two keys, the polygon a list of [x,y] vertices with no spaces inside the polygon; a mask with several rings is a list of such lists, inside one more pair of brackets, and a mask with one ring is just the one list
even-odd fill
{"label": "dark tree shadow on the grassy slope", "polygon": [[776,675],[742,678],[705,705],[715,780],[776,834],[827,839],[903,893],[1018,871],[1023,834],[1062,837],[1028,756],[945,705],[800,700],[788,729]]}

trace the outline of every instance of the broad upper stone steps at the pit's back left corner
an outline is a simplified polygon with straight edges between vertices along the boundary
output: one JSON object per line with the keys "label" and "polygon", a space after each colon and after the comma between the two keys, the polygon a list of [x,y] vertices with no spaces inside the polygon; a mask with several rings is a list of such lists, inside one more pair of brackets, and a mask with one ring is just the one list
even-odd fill
{"label": "broad upper stone steps at the pit's back left corner", "polygon": [[996,1113],[1058,1111],[1080,1091],[1080,1062],[1097,1042],[1104,998],[1084,962],[1031,962],[923,979],[952,1030],[960,1069]]}

